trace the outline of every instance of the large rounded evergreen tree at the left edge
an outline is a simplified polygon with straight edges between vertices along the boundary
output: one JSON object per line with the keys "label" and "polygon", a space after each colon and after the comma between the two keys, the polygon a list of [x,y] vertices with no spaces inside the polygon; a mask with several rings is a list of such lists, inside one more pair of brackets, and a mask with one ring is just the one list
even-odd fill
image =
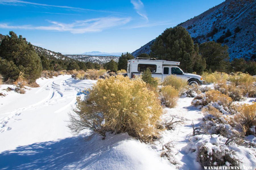
{"label": "large rounded evergreen tree at the left edge", "polygon": [[[5,63],[8,66],[16,66],[19,72],[24,74],[24,78],[30,82],[35,81],[42,72],[40,57],[37,55],[32,44],[26,41],[26,38],[22,38],[21,35],[18,37],[13,31],[10,31],[9,35],[5,36],[0,44],[0,56],[2,59],[5,59],[1,63]],[[0,67],[3,67],[3,65]],[[12,68],[10,69],[13,70]],[[13,77],[10,77],[10,74],[5,74],[5,72],[1,72],[1,74],[5,79],[10,78],[13,80],[19,75],[19,73],[17,75],[12,74]]]}

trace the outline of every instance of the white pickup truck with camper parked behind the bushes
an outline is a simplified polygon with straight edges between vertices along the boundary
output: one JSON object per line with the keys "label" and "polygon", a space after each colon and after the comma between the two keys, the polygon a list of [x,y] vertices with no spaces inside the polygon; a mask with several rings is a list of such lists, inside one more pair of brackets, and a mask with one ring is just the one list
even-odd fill
{"label": "white pickup truck with camper parked behind the bushes", "polygon": [[157,77],[164,80],[168,75],[175,75],[177,77],[186,79],[189,85],[202,85],[203,79],[196,74],[184,73],[179,67],[179,62],[156,60],[148,58],[136,58],[128,60],[127,76],[133,78],[135,75],[140,75],[146,68],[149,68],[152,77]]}

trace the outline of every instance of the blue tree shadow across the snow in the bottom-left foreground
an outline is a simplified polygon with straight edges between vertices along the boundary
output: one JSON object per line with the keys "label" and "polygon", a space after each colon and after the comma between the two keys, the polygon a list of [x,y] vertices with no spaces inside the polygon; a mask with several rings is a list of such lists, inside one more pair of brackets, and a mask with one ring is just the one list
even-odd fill
{"label": "blue tree shadow across the snow in the bottom-left foreground", "polygon": [[97,162],[100,151],[107,151],[125,139],[128,138],[112,136],[102,140],[95,135],[85,141],[81,136],[75,136],[19,146],[0,153],[0,169],[82,169],[88,163]]}

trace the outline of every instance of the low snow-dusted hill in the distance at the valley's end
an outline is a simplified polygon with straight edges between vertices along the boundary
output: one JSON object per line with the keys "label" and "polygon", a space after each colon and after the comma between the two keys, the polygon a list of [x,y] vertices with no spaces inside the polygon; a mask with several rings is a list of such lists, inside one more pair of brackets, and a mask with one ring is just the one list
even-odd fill
{"label": "low snow-dusted hill in the distance at the valley's end", "polygon": [[104,64],[108,63],[110,60],[118,62],[119,57],[117,56],[92,56],[92,55],[65,55],[65,57],[75,59],[83,62],[99,63]]}

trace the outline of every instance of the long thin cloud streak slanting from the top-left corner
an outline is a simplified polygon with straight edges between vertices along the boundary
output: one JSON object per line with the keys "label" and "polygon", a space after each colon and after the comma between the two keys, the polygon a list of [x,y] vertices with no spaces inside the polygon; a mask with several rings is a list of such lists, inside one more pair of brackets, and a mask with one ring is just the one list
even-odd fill
{"label": "long thin cloud streak slanting from the top-left corner", "polygon": [[94,9],[69,7],[69,6],[49,5],[49,4],[41,4],[41,3],[34,3],[34,2],[20,1],[20,0],[0,0],[0,4],[2,4],[2,5],[22,5],[22,4],[24,5],[24,4],[29,4],[29,5],[37,5],[37,6],[44,6],[44,7],[68,8],[68,9],[88,10],[88,11],[107,12],[107,13],[119,13],[119,12],[106,11],[106,10],[94,10]]}

